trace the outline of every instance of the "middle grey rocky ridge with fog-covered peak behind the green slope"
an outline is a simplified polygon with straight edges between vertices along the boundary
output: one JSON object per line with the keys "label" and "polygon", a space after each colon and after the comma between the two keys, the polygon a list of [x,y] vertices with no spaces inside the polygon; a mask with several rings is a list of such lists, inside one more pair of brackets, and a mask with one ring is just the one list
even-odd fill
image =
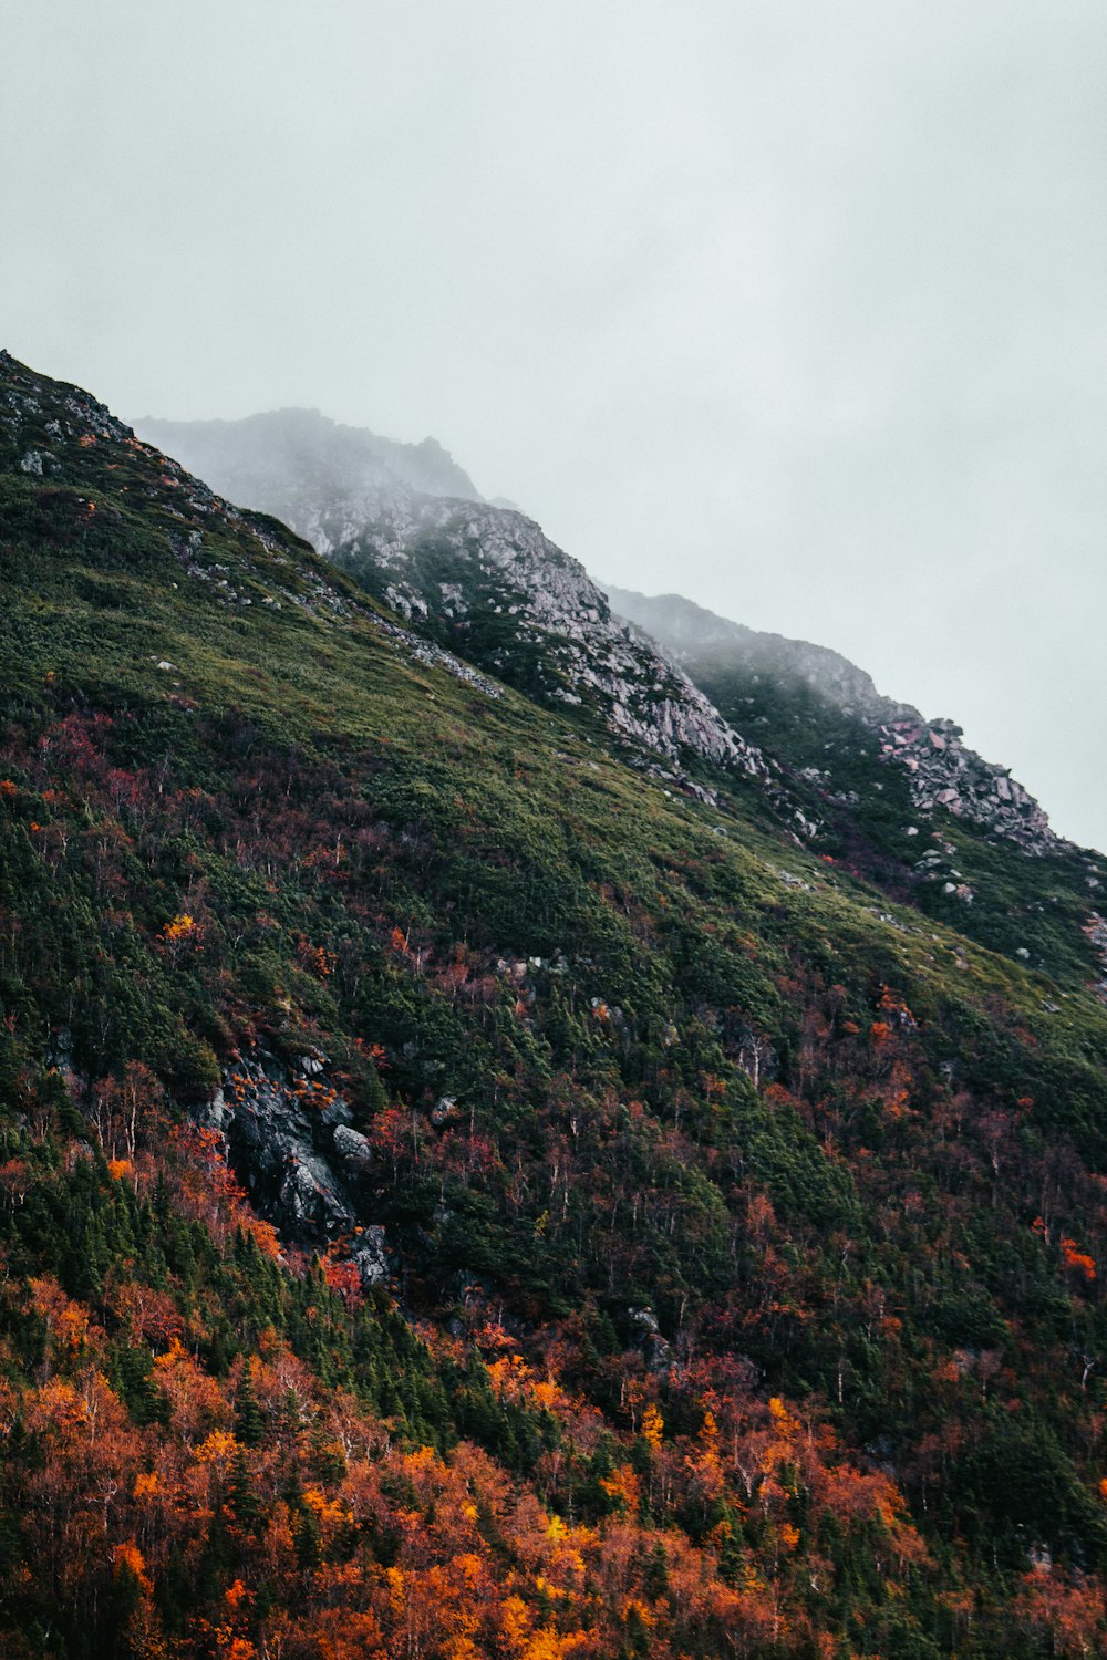
{"label": "middle grey rocky ridge with fog-covered peak behind the green slope", "polygon": [[139,428],[231,500],[284,520],[455,661],[551,707],[588,706],[672,764],[767,777],[760,750],[611,616],[584,568],[523,513],[481,501],[430,440],[388,445],[305,410]]}

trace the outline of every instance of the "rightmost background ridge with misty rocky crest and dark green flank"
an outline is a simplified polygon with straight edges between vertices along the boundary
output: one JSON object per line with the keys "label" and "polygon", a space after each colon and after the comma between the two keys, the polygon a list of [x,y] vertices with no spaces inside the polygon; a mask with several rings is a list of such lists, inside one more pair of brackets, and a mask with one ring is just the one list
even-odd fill
{"label": "rightmost background ridge with misty rocky crest and dark green flank", "polygon": [[807,785],[822,852],[1066,984],[1102,978],[1102,855],[1054,835],[1039,803],[969,750],[959,727],[883,697],[822,646],[758,634],[674,594],[607,594],[782,762],[793,793]]}

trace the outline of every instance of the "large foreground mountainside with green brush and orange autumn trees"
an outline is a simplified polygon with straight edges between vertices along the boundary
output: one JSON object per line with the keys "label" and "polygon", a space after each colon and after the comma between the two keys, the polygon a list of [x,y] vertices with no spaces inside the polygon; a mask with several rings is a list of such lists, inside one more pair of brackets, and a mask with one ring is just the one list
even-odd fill
{"label": "large foreground mountainside with green brush and orange autumn trees", "polygon": [[674,787],[7,354],[0,598],[5,1655],[1104,1652],[1092,855],[936,802],[994,950],[810,686]]}

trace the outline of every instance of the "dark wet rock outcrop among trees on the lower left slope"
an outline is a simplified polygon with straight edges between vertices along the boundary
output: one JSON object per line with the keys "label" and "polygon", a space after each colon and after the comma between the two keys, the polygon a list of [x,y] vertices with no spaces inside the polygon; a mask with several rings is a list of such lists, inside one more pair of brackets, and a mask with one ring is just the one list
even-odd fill
{"label": "dark wet rock outcrop among trees on the lower left slope", "polygon": [[199,1116],[219,1130],[254,1208],[282,1240],[325,1250],[340,1238],[363,1286],[388,1278],[385,1230],[363,1222],[372,1147],[327,1086],[325,1061],[304,1056],[287,1066],[259,1049],[224,1072]]}

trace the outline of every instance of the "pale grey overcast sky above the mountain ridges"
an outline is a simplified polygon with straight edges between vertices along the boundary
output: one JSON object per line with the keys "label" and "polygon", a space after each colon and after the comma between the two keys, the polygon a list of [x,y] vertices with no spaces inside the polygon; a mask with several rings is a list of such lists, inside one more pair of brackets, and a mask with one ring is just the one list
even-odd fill
{"label": "pale grey overcast sky above the mountain ridges", "polygon": [[129,418],[433,433],[1107,847],[1104,0],[2,13],[17,357]]}

